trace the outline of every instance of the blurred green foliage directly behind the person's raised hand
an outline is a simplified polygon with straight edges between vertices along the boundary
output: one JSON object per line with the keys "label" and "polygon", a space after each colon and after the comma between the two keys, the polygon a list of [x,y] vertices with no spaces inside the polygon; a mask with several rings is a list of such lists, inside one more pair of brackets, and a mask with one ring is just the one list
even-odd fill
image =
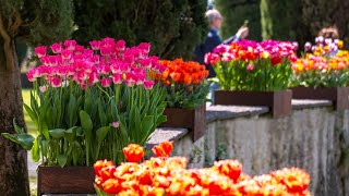
{"label": "blurred green foliage directly behind the person's raised hand", "polygon": [[228,38],[234,35],[249,20],[248,39],[261,40],[261,12],[258,0],[215,0],[216,9],[224,16],[221,35]]}

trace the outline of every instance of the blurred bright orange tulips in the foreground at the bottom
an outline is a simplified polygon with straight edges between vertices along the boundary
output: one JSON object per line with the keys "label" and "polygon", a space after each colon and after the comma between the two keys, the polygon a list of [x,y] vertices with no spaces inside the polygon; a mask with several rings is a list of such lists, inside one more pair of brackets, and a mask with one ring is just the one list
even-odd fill
{"label": "blurred bright orange tulips in the foreground at the bottom", "polygon": [[[139,147],[129,145],[124,152],[129,152],[132,148],[139,150]],[[94,168],[99,194],[118,196],[311,195],[308,189],[310,175],[298,168],[281,169],[251,177],[242,173],[242,164],[238,160],[217,161],[212,168],[185,169],[185,158],[164,158],[172,150],[171,143],[165,142],[153,150],[159,150],[160,157],[151,158],[139,164],[125,162],[113,167],[108,161],[97,161]],[[107,174],[104,174],[105,172]]]}

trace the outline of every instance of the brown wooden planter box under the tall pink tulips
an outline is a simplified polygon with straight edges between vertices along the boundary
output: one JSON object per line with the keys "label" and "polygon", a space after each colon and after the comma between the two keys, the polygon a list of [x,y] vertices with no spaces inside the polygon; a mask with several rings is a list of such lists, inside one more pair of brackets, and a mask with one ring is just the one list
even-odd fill
{"label": "brown wooden planter box under the tall pink tulips", "polygon": [[37,195],[95,194],[93,167],[38,167]]}

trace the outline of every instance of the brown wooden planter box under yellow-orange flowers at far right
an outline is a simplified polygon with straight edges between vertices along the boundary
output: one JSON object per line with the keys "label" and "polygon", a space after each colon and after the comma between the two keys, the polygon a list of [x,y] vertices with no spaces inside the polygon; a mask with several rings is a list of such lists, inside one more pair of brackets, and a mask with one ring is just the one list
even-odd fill
{"label": "brown wooden planter box under yellow-orange flowers at far right", "polygon": [[330,100],[334,102],[336,110],[349,109],[349,87],[333,87],[333,88],[296,87],[296,88],[292,88],[292,91],[293,91],[293,99]]}

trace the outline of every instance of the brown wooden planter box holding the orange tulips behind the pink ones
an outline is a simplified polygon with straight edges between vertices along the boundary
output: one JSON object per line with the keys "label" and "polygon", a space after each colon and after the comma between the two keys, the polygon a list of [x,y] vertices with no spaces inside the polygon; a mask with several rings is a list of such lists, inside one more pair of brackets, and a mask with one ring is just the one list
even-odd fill
{"label": "brown wooden planter box holding the orange tulips behind the pink ones", "polygon": [[167,122],[159,127],[184,127],[192,132],[193,140],[201,138],[206,131],[206,105],[195,109],[166,108]]}

